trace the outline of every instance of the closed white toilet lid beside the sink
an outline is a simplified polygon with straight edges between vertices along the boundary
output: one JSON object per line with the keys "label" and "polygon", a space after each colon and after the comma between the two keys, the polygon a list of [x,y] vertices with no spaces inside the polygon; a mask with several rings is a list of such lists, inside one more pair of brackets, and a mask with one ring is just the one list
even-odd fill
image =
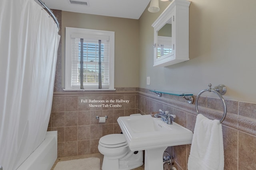
{"label": "closed white toilet lid beside the sink", "polygon": [[123,134],[110,134],[100,138],[100,145],[103,147],[122,147],[127,145]]}

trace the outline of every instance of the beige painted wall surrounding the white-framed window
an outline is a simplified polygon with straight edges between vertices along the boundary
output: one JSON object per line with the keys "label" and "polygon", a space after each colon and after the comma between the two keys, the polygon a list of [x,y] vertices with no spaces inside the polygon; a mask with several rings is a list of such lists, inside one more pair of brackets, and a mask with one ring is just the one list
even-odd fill
{"label": "beige painted wall surrounding the white-framed window", "polygon": [[[138,87],[138,20],[62,11],[62,61],[65,57],[65,27],[115,32],[115,87]],[[62,62],[62,68],[64,68]],[[64,80],[62,69],[62,80]],[[62,81],[64,87],[64,81]]]}

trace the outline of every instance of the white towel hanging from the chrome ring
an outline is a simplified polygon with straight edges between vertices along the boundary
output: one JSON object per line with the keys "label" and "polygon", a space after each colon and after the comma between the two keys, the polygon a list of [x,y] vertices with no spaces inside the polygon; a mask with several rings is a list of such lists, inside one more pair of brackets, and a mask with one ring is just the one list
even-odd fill
{"label": "white towel hanging from the chrome ring", "polygon": [[222,125],[219,120],[197,115],[188,170],[224,170]]}

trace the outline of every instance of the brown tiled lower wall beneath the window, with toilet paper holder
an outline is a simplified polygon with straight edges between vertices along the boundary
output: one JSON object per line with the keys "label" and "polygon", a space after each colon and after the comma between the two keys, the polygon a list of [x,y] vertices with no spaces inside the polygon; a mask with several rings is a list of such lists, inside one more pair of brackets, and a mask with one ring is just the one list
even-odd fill
{"label": "brown tiled lower wall beneath the window, with toilet paper holder", "polygon": [[[54,93],[48,131],[58,131],[58,157],[98,153],[100,137],[121,132],[117,118],[138,112],[138,95],[137,88],[119,90]],[[105,115],[99,123],[96,116]]]}

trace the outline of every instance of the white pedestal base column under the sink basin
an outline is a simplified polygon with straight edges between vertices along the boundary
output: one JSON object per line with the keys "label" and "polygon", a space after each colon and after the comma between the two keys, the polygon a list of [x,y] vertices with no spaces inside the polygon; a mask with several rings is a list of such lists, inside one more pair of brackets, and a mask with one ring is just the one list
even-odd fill
{"label": "white pedestal base column under the sink basin", "polygon": [[145,170],[163,170],[163,154],[167,147],[145,150]]}

